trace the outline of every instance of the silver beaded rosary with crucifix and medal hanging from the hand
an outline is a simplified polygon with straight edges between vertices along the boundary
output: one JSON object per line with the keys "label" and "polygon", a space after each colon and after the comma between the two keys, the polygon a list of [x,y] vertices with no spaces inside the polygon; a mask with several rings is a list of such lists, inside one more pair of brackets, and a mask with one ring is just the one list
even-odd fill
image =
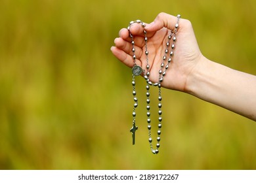
{"label": "silver beaded rosary with crucifix and medal hanging from the hand", "polygon": [[[135,41],[134,41],[134,37],[130,32],[130,26],[132,24],[141,24],[142,27],[145,27],[146,24],[144,22],[141,22],[140,20],[136,20],[136,21],[131,21],[129,26],[127,27],[128,31],[129,31],[129,35],[131,37],[131,44],[132,44],[132,52],[133,52],[133,69],[132,69],[132,73],[133,73],[133,81],[132,81],[132,85],[133,85],[133,100],[135,101],[135,104],[133,105],[133,127],[131,127],[130,132],[132,133],[132,137],[133,137],[133,144],[135,144],[135,132],[138,129],[138,127],[136,126],[136,108],[138,107],[138,99],[136,97],[136,91],[135,91],[135,76],[140,76],[143,75],[145,80],[146,80],[146,116],[147,116],[147,124],[148,124],[148,142],[150,144],[150,150],[152,151],[153,154],[158,154],[159,152],[159,148],[160,148],[160,135],[161,135],[161,122],[162,122],[162,118],[161,118],[161,82],[163,82],[163,77],[166,75],[167,73],[167,69],[169,68],[169,64],[171,63],[171,58],[173,57],[173,51],[175,48],[175,41],[177,41],[176,39],[176,33],[178,31],[178,27],[179,27],[179,19],[181,18],[181,15],[177,15],[177,24],[175,24],[175,29],[171,30],[171,33],[168,35],[168,41],[166,42],[166,47],[165,47],[165,52],[164,52],[164,56],[163,59],[161,61],[161,65],[160,65],[160,71],[159,71],[159,80],[156,83],[153,83],[150,81],[149,76],[150,76],[150,65],[148,62],[148,47],[147,47],[147,43],[148,43],[148,37],[146,35],[146,30],[144,30],[144,42],[145,42],[145,55],[146,55],[146,71],[144,69],[142,69],[139,65],[136,64],[136,56],[135,56]],[[172,40],[172,42],[171,42]],[[170,48],[171,47],[171,48]],[[168,56],[168,59],[167,59]],[[167,60],[167,63],[165,63]],[[156,143],[156,149],[153,148],[152,145],[152,136],[151,136],[151,119],[150,119],[150,86],[157,86],[158,87],[158,137],[156,139],[157,143]]]}

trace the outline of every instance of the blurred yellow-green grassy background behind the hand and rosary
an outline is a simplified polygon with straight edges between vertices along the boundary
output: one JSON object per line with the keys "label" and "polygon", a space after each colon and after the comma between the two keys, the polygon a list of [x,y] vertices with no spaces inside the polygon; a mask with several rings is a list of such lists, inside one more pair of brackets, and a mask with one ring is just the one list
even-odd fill
{"label": "blurred yellow-green grassy background behind the hand and rosary", "polygon": [[144,103],[131,144],[131,70],[110,46],[160,12],[189,19],[207,58],[256,74],[253,0],[1,0],[0,169],[256,169],[255,122],[186,93],[163,90],[160,154]]}

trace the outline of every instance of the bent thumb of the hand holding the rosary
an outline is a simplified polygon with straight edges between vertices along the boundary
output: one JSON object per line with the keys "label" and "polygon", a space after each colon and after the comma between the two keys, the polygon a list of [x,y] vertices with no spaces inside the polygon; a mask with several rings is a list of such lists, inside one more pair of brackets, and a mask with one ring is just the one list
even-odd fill
{"label": "bent thumb of the hand holding the rosary", "polygon": [[[180,15],[178,16],[181,17]],[[146,31],[158,31],[161,28],[166,27],[167,29],[173,30],[177,24],[177,17],[161,12],[156,16],[154,22],[146,25],[145,29]]]}

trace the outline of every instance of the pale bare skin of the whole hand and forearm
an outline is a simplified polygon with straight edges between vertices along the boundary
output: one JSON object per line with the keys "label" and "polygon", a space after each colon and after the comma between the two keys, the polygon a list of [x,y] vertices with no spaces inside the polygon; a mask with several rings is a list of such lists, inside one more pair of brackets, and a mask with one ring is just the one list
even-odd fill
{"label": "pale bare skin of the whole hand and forearm", "polygon": [[[131,25],[135,36],[136,63],[146,70],[144,29],[148,35],[150,80],[158,82],[168,30],[173,30],[177,17],[160,13],[151,24]],[[111,51],[122,63],[133,67],[131,39],[127,29],[119,31]],[[174,56],[161,86],[189,93],[204,101],[236,112],[256,121],[256,76],[211,61],[200,51],[192,24],[180,19]]]}

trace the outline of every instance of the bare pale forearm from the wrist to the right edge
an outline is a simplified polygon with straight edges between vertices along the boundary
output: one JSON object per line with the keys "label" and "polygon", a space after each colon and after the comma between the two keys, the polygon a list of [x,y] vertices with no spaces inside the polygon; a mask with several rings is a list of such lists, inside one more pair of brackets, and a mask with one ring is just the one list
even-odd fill
{"label": "bare pale forearm from the wrist to the right edge", "polygon": [[256,76],[202,58],[186,92],[256,121]]}

